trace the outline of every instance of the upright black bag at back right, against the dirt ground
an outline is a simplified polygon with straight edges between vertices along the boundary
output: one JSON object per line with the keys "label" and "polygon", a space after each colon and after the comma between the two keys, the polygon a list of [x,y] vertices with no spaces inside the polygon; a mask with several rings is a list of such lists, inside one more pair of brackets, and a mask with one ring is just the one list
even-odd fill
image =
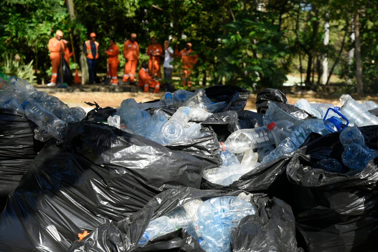
{"label": "upright black bag at back right, against the dirt ground", "polygon": [[316,118],[311,114],[308,114],[305,110],[299,109],[289,103],[284,93],[278,89],[264,89],[256,96],[256,110],[259,113],[265,114],[270,103],[276,103],[278,107],[285,110],[294,117],[307,120]]}

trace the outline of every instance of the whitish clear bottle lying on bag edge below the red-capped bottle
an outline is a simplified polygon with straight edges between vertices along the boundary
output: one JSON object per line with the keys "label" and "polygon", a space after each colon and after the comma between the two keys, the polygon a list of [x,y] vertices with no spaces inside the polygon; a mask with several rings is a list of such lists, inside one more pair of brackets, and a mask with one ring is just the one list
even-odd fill
{"label": "whitish clear bottle lying on bag edge below the red-capped bottle", "polygon": [[219,184],[226,178],[235,174],[246,174],[259,166],[260,163],[249,161],[239,165],[222,166],[203,171],[203,178],[214,184]]}

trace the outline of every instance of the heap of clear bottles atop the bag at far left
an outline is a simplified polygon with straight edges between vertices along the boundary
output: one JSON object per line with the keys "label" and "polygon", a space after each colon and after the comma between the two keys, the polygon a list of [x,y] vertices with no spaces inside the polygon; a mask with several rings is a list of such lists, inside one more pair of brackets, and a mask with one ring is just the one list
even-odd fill
{"label": "heap of clear bottles atop the bag at far left", "polygon": [[22,112],[37,124],[34,137],[63,140],[67,124],[81,121],[86,113],[81,107],[68,107],[58,98],[40,92],[25,79],[0,76],[0,108]]}

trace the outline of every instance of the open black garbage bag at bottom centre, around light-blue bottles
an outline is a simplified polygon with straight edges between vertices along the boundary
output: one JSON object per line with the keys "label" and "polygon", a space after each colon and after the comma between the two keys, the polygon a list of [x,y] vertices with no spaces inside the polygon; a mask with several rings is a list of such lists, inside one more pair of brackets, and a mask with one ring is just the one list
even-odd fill
{"label": "open black garbage bag at bottom centre, around light-blue bottles", "polygon": [[[70,251],[203,251],[198,241],[182,229],[149,241],[144,247],[138,247],[137,244],[151,219],[167,215],[191,199],[206,200],[218,196],[240,194],[248,195],[245,191],[226,192],[194,188],[164,191],[156,195],[143,210],[134,216],[118,223],[99,226],[82,241],[75,241]],[[249,197],[244,199],[256,206],[258,216],[246,216],[234,229],[232,251],[245,251],[243,247],[253,249],[252,244],[259,248],[277,248],[277,250],[265,251],[297,251],[294,216],[290,206],[275,198],[252,195]],[[254,233],[256,229],[263,230],[265,235]]]}

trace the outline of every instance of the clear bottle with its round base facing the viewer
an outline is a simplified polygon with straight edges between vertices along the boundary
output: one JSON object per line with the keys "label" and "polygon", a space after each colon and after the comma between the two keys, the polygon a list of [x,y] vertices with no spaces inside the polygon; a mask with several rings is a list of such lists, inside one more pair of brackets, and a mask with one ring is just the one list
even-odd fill
{"label": "clear bottle with its round base facing the viewer", "polygon": [[186,140],[184,125],[189,121],[190,117],[190,107],[179,107],[170,120],[161,126],[161,142],[167,144]]}

